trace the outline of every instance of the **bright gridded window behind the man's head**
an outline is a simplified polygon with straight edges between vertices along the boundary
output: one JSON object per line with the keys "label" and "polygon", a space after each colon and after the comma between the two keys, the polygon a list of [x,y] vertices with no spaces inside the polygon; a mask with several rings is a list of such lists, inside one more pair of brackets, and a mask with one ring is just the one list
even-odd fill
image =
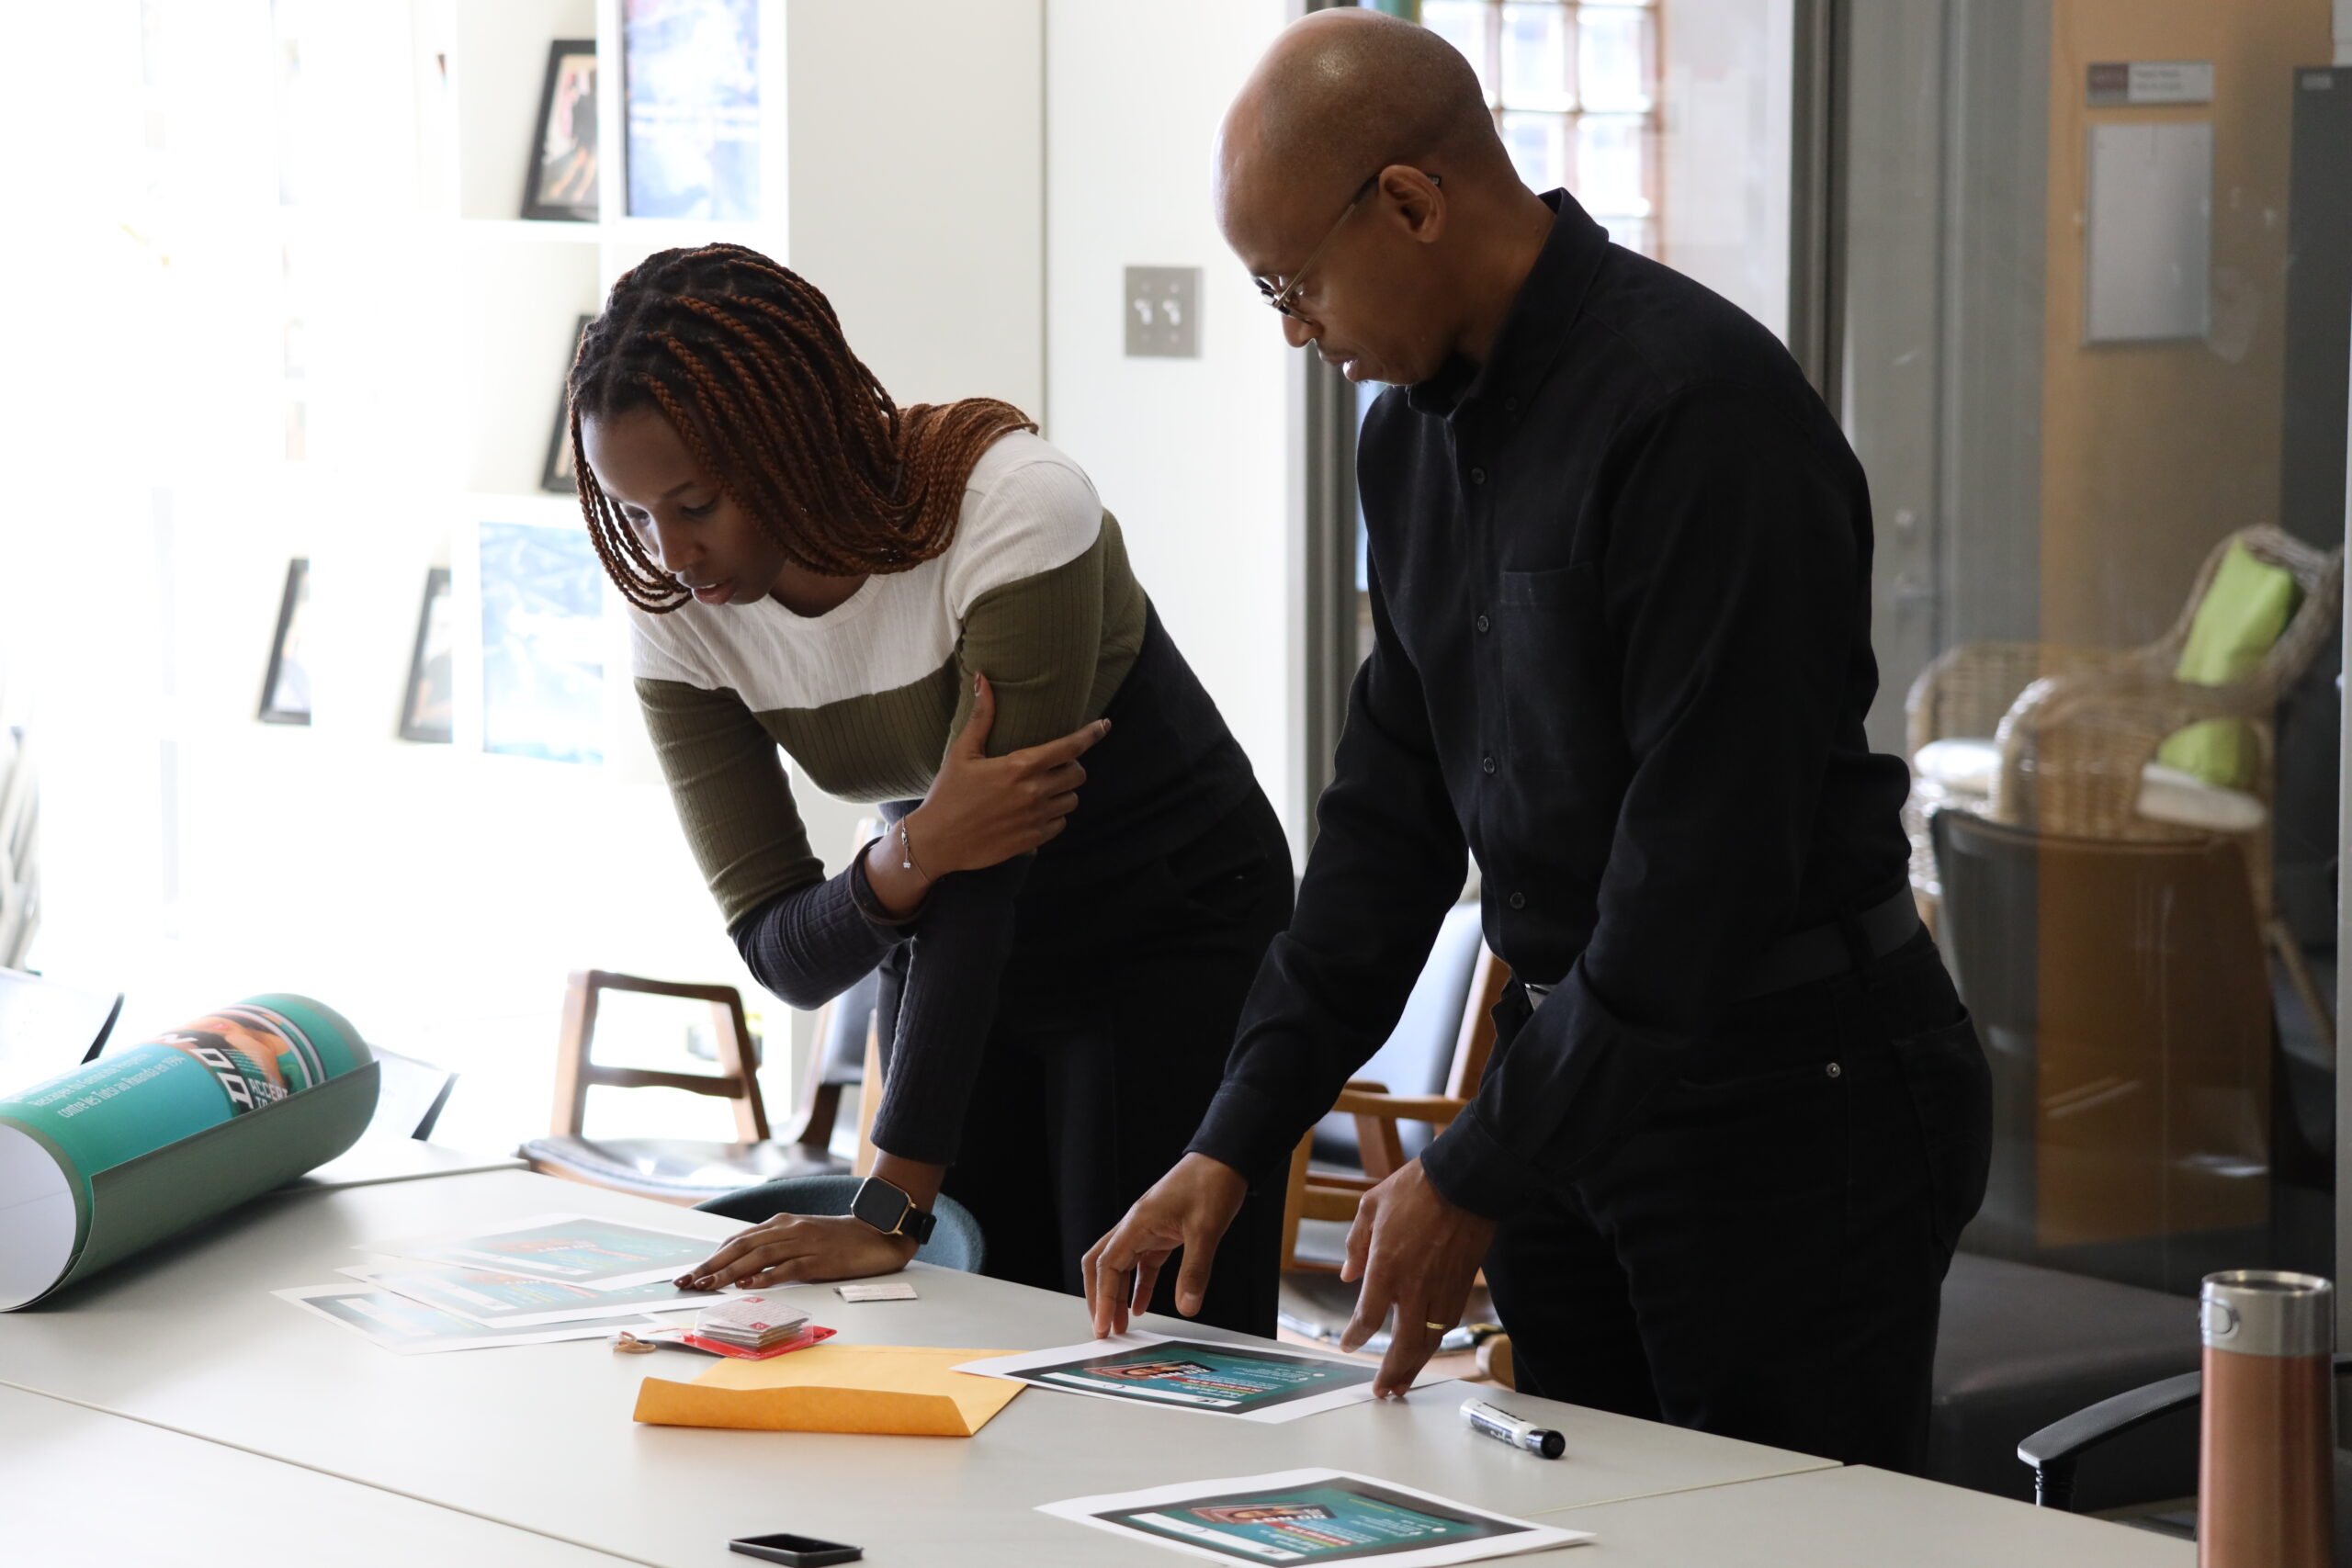
{"label": "bright gridded window behind the man's head", "polygon": [[1421,21],[1477,68],[1519,179],[1658,254],[1658,5],[1425,0]]}

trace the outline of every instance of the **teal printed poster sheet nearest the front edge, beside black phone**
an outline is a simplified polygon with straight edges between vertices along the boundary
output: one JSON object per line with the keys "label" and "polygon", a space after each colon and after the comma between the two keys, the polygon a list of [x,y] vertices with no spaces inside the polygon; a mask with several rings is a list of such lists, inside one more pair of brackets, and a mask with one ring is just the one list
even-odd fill
{"label": "teal printed poster sheet nearest the front edge, beside black phone", "polygon": [[1437,1568],[1592,1540],[1588,1530],[1489,1514],[1345,1469],[1185,1481],[1044,1502],[1037,1512],[1223,1563],[1378,1559],[1381,1568]]}

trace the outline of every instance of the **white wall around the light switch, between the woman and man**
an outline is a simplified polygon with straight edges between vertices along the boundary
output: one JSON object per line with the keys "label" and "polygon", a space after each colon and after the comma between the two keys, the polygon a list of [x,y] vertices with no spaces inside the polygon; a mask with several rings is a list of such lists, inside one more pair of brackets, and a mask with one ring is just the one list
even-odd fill
{"label": "white wall around the light switch, between the woman and man", "polygon": [[[1094,475],[1162,621],[1284,816],[1296,816],[1303,383],[1216,233],[1209,155],[1225,103],[1294,12],[1291,0],[1047,0],[1044,12],[1047,435]],[[1200,360],[1124,357],[1127,266],[1202,268]]]}

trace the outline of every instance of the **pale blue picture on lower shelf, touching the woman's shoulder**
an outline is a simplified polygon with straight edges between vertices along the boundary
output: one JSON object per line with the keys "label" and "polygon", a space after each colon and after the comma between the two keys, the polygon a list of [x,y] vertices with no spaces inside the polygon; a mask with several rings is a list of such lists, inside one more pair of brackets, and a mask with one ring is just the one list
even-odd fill
{"label": "pale blue picture on lower shelf, touching the woman's shoulder", "polygon": [[482,750],[604,762],[604,567],[588,529],[475,527]]}

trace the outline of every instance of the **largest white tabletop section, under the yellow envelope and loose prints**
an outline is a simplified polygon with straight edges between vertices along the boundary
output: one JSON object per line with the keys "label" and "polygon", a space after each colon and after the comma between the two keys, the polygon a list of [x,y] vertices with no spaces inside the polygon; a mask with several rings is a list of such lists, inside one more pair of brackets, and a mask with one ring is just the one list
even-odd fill
{"label": "largest white tabletop section, under the yellow envelope and loose prints", "polygon": [[[602,1340],[393,1356],[268,1291],[334,1281],[365,1241],[546,1211],[633,1218],[713,1239],[734,1222],[496,1171],[280,1192],[54,1305],[0,1316],[0,1382],[59,1394],[661,1568],[722,1568],[727,1540],[800,1530],[866,1547],[877,1568],[1164,1563],[1171,1554],[1033,1512],[1164,1481],[1331,1465],[1510,1514],[1823,1469],[1825,1460],[1550,1401],[1545,1462],[1472,1436],[1461,1389],[1268,1427],[1025,1392],[976,1439],[703,1432],[630,1420],[640,1378],[687,1356]],[[915,1302],[847,1305],[807,1288],[842,1340],[1035,1349],[1089,1338],[1084,1302],[915,1269]],[[1145,1319],[1162,1333],[1204,1333]],[[1209,1338],[1235,1338],[1216,1335]],[[652,1363],[652,1366],[649,1366]]]}

